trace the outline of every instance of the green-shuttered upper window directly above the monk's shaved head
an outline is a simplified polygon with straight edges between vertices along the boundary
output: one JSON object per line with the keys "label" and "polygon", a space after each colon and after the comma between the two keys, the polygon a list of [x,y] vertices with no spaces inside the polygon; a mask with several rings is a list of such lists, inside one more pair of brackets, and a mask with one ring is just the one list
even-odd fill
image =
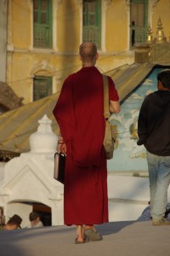
{"label": "green-shuttered upper window directly above the monk's shaved head", "polygon": [[83,0],[82,42],[94,42],[101,48],[101,0]]}

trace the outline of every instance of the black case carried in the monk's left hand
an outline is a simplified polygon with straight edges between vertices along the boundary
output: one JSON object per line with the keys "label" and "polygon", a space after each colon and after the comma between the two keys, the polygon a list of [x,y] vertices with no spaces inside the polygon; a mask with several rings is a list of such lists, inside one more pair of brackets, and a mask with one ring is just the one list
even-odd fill
{"label": "black case carried in the monk's left hand", "polygon": [[65,183],[65,160],[66,154],[56,152],[54,154],[54,179],[59,183]]}

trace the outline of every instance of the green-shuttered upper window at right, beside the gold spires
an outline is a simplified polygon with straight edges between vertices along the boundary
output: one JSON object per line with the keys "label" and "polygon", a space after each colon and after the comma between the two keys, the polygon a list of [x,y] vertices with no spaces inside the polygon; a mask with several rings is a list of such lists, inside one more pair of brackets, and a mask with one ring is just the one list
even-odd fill
{"label": "green-shuttered upper window at right, beside the gold spires", "polygon": [[148,0],[132,0],[130,3],[130,47],[144,44],[148,27]]}

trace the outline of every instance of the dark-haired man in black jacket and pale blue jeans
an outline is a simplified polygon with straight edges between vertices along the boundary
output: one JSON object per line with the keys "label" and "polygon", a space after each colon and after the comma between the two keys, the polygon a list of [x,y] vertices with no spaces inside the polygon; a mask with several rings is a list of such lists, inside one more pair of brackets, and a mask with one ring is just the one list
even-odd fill
{"label": "dark-haired man in black jacket and pale blue jeans", "polygon": [[163,217],[170,183],[170,69],[157,74],[157,89],[140,108],[137,144],[146,148],[152,224],[167,225]]}

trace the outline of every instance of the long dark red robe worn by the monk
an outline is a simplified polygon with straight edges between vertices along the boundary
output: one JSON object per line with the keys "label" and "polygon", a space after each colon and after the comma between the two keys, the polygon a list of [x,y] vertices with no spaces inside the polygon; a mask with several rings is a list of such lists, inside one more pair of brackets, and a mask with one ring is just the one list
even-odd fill
{"label": "long dark red robe worn by the monk", "polygon": [[[109,96],[111,101],[119,99],[111,78]],[[82,67],[65,79],[54,117],[67,148],[65,224],[108,222],[104,89],[96,67]]]}

